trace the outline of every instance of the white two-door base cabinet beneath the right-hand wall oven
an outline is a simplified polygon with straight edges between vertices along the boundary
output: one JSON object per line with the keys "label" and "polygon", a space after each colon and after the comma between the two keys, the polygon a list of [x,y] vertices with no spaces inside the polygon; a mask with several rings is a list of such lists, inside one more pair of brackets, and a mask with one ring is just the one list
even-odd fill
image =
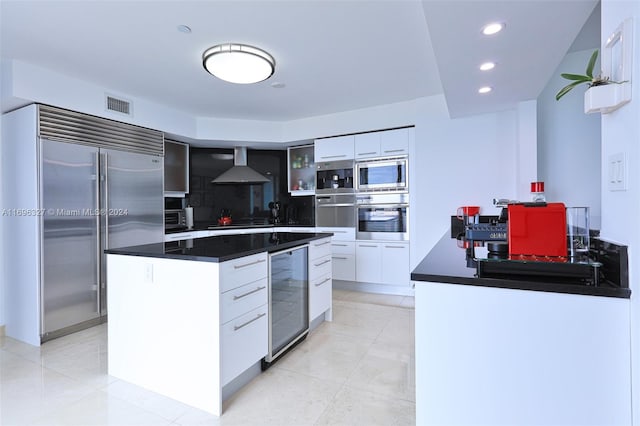
{"label": "white two-door base cabinet beneath the right-hand wall oven", "polygon": [[409,243],[357,242],[356,281],[410,285]]}

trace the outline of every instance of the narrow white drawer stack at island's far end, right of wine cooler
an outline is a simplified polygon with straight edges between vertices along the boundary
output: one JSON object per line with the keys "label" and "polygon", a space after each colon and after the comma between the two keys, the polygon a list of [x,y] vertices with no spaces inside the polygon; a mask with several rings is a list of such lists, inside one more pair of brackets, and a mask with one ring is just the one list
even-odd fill
{"label": "narrow white drawer stack at island's far end, right of wine cooler", "polygon": [[332,306],[331,238],[309,243],[309,321],[325,314],[331,321]]}

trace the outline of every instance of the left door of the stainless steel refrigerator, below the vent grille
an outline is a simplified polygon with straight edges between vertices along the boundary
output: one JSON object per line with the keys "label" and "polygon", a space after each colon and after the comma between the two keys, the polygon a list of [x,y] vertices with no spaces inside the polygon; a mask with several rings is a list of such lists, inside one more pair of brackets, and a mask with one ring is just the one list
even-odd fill
{"label": "left door of the stainless steel refrigerator, below the vent grille", "polygon": [[100,316],[98,149],[43,140],[41,334]]}

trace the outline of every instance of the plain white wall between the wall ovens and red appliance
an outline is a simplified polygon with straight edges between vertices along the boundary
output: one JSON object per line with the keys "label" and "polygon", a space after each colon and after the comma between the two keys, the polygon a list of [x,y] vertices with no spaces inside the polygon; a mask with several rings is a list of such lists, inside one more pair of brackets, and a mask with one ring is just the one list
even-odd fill
{"label": "plain white wall between the wall ovens and red appliance", "polygon": [[411,266],[447,232],[451,215],[478,205],[497,215],[493,198],[515,198],[518,114],[505,111],[450,119],[444,96],[416,105],[415,150],[411,152]]}

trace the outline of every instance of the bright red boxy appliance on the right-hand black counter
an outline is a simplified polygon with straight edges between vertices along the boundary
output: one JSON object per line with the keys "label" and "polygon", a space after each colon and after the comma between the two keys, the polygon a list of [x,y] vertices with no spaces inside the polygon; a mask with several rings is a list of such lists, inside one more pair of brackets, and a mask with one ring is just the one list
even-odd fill
{"label": "bright red boxy appliance on the right-hand black counter", "polygon": [[509,204],[509,256],[567,256],[567,216],[563,203]]}

